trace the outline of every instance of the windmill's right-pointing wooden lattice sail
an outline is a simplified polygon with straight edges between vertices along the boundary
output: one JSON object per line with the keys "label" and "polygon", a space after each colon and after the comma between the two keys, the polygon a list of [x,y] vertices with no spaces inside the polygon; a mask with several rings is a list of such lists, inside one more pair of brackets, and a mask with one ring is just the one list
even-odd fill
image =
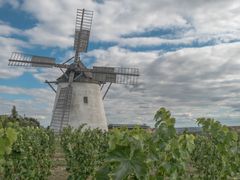
{"label": "windmill's right-pointing wooden lattice sail", "polygon": [[137,68],[96,67],[92,69],[93,79],[102,83],[137,84],[139,70]]}

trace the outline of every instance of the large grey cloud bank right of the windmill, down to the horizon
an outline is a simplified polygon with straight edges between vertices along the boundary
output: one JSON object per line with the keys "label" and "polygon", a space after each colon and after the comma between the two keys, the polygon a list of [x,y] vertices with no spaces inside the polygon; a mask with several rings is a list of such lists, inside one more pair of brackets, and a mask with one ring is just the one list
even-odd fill
{"label": "large grey cloud bank right of the windmill, down to the horizon", "polygon": [[163,106],[175,112],[178,126],[194,125],[201,116],[237,124],[232,112],[239,110],[239,47],[240,43],[231,43],[163,54],[147,52],[144,58],[142,52],[117,47],[92,52],[99,65],[109,65],[111,60],[116,66],[140,65],[138,86],[114,84],[110,89],[104,102],[108,118],[127,123],[138,122],[139,117],[153,124],[153,114]]}

